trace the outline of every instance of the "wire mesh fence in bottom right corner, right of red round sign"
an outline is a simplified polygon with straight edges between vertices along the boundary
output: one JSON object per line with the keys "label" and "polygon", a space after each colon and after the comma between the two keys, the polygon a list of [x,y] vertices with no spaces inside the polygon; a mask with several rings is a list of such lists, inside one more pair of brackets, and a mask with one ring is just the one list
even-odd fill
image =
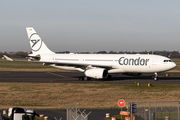
{"label": "wire mesh fence in bottom right corner, right of red round sign", "polygon": [[[136,120],[180,120],[180,101],[128,102],[130,116]],[[131,117],[132,120],[132,117]]]}

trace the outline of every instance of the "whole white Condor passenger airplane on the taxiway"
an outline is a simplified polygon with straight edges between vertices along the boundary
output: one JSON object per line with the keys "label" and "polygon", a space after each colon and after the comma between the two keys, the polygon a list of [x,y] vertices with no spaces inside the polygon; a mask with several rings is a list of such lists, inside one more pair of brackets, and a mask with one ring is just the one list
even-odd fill
{"label": "whole white Condor passenger airplane on the taxiway", "polygon": [[79,77],[79,80],[110,79],[111,73],[138,76],[154,73],[154,80],[158,80],[158,73],[176,67],[171,59],[154,54],[56,54],[46,46],[34,28],[27,27],[26,31],[32,49],[29,57],[43,65],[83,72],[84,76]]}

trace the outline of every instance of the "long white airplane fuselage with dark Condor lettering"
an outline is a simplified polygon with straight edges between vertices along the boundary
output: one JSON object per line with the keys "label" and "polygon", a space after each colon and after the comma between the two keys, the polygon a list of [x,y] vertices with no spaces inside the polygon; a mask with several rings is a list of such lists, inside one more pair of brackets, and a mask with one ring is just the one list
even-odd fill
{"label": "long white airplane fuselage with dark Condor lettering", "polygon": [[152,54],[53,54],[41,55],[41,60],[63,64],[54,66],[66,70],[79,70],[69,65],[107,67],[108,73],[154,73],[176,66],[169,58]]}

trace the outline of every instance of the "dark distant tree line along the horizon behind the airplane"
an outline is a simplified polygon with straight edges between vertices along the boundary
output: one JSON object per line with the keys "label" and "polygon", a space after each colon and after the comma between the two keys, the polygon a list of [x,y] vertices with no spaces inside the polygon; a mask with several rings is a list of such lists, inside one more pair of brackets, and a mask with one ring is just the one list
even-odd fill
{"label": "dark distant tree line along the horizon behind the airplane", "polygon": [[[56,53],[69,54],[71,52],[62,51],[62,52],[56,52]],[[23,51],[0,52],[0,57],[3,57],[3,55],[7,55],[11,58],[26,58],[26,57],[28,57],[28,54],[30,54],[30,52],[23,52]],[[91,54],[91,53],[90,52],[76,52],[74,54]],[[162,56],[166,56],[166,57],[170,57],[170,58],[180,58],[179,51],[153,51],[153,52],[152,51],[149,51],[149,52],[147,52],[147,51],[142,51],[142,52],[129,52],[129,51],[106,52],[106,51],[99,51],[99,52],[94,52],[93,54],[155,54],[155,55],[162,55]]]}

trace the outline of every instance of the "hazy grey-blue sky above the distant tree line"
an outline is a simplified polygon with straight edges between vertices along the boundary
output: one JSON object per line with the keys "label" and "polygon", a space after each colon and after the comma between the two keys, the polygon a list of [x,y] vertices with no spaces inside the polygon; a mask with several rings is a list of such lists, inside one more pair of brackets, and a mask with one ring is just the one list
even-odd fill
{"label": "hazy grey-blue sky above the distant tree line", "polygon": [[0,52],[180,51],[179,0],[0,0]]}

